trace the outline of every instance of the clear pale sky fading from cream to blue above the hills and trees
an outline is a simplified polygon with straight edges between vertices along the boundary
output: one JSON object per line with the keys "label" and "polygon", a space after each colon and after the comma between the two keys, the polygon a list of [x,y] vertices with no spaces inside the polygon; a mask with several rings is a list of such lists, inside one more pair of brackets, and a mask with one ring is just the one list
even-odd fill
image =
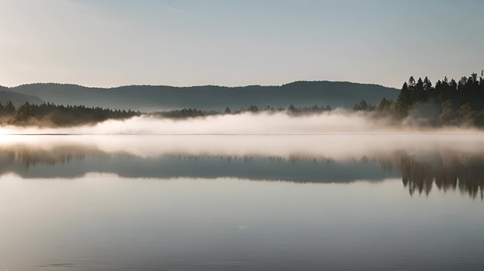
{"label": "clear pale sky fading from cream to blue above the hills and trees", "polygon": [[483,10],[483,0],[0,0],[0,85],[460,78],[484,69]]}

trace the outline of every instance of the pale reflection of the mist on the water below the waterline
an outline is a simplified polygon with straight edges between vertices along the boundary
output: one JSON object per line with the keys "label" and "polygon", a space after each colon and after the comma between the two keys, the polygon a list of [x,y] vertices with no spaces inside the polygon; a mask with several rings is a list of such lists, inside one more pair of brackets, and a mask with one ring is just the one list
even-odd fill
{"label": "pale reflection of the mist on the water below the waterline", "polygon": [[1,135],[0,150],[96,150],[106,154],[220,157],[360,159],[405,151],[483,153],[484,136],[473,134],[336,135]]}

